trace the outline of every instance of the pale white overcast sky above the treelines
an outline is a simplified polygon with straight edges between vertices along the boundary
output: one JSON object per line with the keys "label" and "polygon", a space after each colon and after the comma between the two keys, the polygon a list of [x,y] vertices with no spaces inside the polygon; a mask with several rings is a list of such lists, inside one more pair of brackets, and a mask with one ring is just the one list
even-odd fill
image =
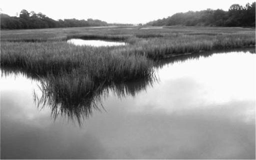
{"label": "pale white overcast sky above the treelines", "polygon": [[1,0],[1,12],[15,16],[20,10],[42,12],[57,19],[100,19],[112,23],[146,23],[176,12],[206,8],[228,10],[234,3],[255,0]]}

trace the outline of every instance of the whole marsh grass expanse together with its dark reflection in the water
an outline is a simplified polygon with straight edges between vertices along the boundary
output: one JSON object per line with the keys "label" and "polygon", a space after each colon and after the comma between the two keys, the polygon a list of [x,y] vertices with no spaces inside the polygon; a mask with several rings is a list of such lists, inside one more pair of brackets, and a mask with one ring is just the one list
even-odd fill
{"label": "whole marsh grass expanse together with its dark reflection in the water", "polygon": [[[53,117],[66,115],[79,123],[93,108],[100,108],[102,95],[113,91],[118,97],[134,96],[144,90],[159,59],[255,45],[251,28],[80,27],[4,30],[0,36],[1,68],[16,68],[38,78],[42,96],[35,96],[37,103],[50,105]],[[76,46],[66,42],[69,38],[117,40],[129,45]],[[146,80],[132,84],[139,79]]]}

